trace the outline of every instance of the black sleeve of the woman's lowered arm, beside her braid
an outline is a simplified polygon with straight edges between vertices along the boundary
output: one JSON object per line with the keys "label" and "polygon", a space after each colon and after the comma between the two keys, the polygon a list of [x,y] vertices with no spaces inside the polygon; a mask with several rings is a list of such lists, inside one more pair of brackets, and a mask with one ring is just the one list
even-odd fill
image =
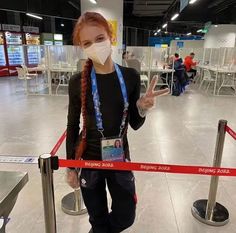
{"label": "black sleeve of the woman's lowered arm, beside her braid", "polygon": [[69,82],[69,106],[67,115],[67,159],[75,158],[75,147],[79,137],[81,113],[80,86],[80,74],[72,76]]}

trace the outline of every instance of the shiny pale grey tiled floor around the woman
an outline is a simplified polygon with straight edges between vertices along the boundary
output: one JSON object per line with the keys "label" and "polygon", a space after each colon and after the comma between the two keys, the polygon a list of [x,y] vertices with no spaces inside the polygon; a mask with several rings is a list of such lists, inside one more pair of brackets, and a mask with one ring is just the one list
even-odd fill
{"label": "shiny pale grey tiled floor around the woman", "polygon": [[[34,155],[49,152],[66,127],[66,96],[25,96],[14,93],[14,82],[0,79],[0,155]],[[145,125],[129,130],[133,161],[211,165],[217,123],[227,119],[236,129],[236,98],[213,97],[191,87],[180,97],[157,101]],[[58,155],[64,157],[65,145]],[[222,166],[236,167],[236,142],[226,136]],[[0,163],[0,170],[29,173],[7,226],[9,233],[43,233],[44,217],[37,165]],[[209,177],[136,173],[139,203],[135,224],[126,233],[236,233],[235,177],[221,178],[217,200],[230,212],[224,227],[199,223],[191,215],[192,203],[207,198]],[[88,216],[68,216],[60,207],[72,191],[64,170],[55,172],[58,233],[87,233]]]}

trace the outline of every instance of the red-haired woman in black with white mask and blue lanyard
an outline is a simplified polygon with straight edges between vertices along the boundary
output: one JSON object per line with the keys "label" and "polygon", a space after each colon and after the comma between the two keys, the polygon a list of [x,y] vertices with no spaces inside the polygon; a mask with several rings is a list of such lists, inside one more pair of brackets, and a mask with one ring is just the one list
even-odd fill
{"label": "red-haired woman in black with white mask and blue lanyard", "polygon": [[[130,160],[127,140],[128,124],[137,130],[145,121],[145,112],[154,105],[153,80],[148,93],[140,96],[140,76],[130,68],[118,66],[111,58],[112,30],[106,19],[94,12],[83,14],[74,29],[74,44],[88,56],[81,74],[69,83],[67,125],[67,158],[102,160],[105,147],[122,140],[120,158]],[[79,135],[80,114],[83,128]],[[114,160],[117,161],[117,158]],[[131,226],[135,219],[136,194],[131,171],[82,169],[80,177],[74,168],[67,169],[72,188],[81,187],[93,233],[118,233]],[[106,185],[112,206],[108,212]]]}

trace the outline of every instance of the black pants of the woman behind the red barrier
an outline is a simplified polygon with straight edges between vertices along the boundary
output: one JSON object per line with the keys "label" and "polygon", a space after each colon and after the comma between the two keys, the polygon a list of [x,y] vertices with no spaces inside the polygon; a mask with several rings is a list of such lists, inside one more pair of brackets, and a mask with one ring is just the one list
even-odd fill
{"label": "black pants of the woman behind the red barrier", "polygon": [[[83,169],[80,184],[93,233],[119,233],[133,224],[136,194],[132,172]],[[112,198],[110,213],[106,184]]]}

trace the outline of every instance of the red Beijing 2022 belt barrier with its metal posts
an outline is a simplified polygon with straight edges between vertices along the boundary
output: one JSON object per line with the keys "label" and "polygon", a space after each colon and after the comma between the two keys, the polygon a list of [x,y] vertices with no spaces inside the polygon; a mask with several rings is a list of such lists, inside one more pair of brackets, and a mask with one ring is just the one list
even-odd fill
{"label": "red Beijing 2022 belt barrier with its metal posts", "polygon": [[[192,214],[199,221],[212,225],[223,226],[229,221],[228,210],[218,202],[216,202],[218,181],[220,176],[236,176],[236,168],[221,167],[223,147],[226,132],[236,140],[236,133],[229,126],[227,121],[220,120],[218,124],[215,155],[213,166],[187,166],[187,165],[171,165],[171,164],[156,164],[156,163],[140,163],[140,162],[111,162],[111,161],[94,161],[94,160],[66,160],[59,159],[56,155],[58,149],[66,138],[66,131],[59,138],[58,142],[50,152],[50,154],[41,155],[39,158],[39,168],[42,176],[43,199],[44,199],[44,216],[45,216],[45,232],[56,233],[56,214],[53,188],[53,170],[65,167],[86,168],[86,169],[101,169],[101,170],[120,170],[120,171],[144,171],[144,172],[163,172],[177,174],[195,174],[195,175],[210,175],[211,183],[208,199],[197,200],[193,203]],[[77,201],[81,202],[78,190],[75,190]],[[70,194],[67,195],[69,197]],[[71,201],[64,197],[64,201]],[[66,200],[67,198],[67,200]],[[74,195],[73,201],[76,202]],[[78,207],[78,204],[72,203]],[[68,206],[66,206],[68,207]],[[63,209],[63,207],[62,207]],[[69,213],[63,209],[64,212]],[[71,211],[71,210],[70,210]],[[73,211],[72,211],[73,212]],[[85,210],[82,213],[86,212]],[[73,214],[73,213],[69,213]],[[81,209],[80,213],[81,214]],[[75,215],[75,214],[73,214]]]}

